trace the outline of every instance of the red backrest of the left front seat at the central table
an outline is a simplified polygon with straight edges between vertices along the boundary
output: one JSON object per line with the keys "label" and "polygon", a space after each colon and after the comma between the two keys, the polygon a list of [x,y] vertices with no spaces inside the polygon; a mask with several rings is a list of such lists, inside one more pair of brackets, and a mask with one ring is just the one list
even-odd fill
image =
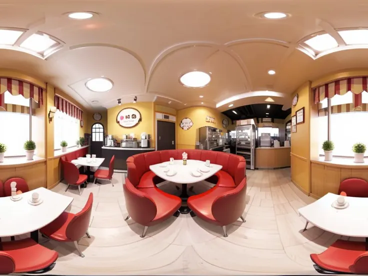
{"label": "red backrest of the left front seat at the central table", "polygon": [[157,207],[150,196],[141,190],[138,190],[125,178],[125,183],[122,184],[125,197],[125,206],[131,219],[135,222],[147,225],[156,216]]}

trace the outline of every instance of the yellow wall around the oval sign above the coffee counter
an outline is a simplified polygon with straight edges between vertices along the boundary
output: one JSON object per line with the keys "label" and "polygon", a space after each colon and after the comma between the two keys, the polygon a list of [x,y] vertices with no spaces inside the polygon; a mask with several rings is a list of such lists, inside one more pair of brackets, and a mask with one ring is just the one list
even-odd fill
{"label": "yellow wall around the oval sign above the coffee counter", "polygon": [[[135,108],[140,114],[142,120],[134,127],[125,128],[116,122],[116,116],[123,108]],[[154,145],[154,115],[153,102],[137,102],[117,105],[107,109],[107,128],[108,134],[114,135],[114,138],[120,141],[122,134],[134,133],[135,137],[140,139],[140,133],[145,132],[151,135],[151,147]]]}

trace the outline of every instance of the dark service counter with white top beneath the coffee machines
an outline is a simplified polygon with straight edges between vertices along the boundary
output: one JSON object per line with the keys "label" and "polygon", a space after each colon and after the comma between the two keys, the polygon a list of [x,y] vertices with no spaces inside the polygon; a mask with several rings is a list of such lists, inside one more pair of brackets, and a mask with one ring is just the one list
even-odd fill
{"label": "dark service counter with white top beneath the coffee machines", "polygon": [[115,155],[114,169],[126,170],[126,159],[129,156],[150,152],[154,148],[147,147],[115,147],[115,146],[102,146],[102,157],[105,158],[101,166],[108,167],[112,155]]}

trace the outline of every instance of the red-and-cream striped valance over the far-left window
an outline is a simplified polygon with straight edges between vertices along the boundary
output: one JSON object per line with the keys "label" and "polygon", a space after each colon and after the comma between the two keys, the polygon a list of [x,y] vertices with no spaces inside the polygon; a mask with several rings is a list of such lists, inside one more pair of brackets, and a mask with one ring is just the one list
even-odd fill
{"label": "red-and-cream striped valance over the far-left window", "polygon": [[[4,101],[4,93],[6,91],[8,91],[10,94],[14,96],[22,95],[25,98],[33,98],[34,101],[38,102],[39,104],[43,104],[43,88],[42,87],[39,87],[33,83],[19,80],[19,79],[14,79],[10,77],[0,77],[0,109],[2,110],[13,111],[13,110],[7,110],[10,108],[8,106],[9,104],[5,104],[5,101]],[[11,109],[13,108],[14,107],[11,106]],[[15,108],[22,108],[22,107],[17,106]],[[21,113],[27,113],[27,112],[21,112]]]}

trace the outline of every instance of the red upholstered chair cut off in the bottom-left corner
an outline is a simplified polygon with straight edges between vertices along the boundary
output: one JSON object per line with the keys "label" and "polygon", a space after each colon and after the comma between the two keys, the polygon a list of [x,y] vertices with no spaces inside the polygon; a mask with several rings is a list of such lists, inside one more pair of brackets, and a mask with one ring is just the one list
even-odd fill
{"label": "red upholstered chair cut off in the bottom-left corner", "polygon": [[0,243],[0,274],[43,273],[55,265],[57,252],[31,238]]}

